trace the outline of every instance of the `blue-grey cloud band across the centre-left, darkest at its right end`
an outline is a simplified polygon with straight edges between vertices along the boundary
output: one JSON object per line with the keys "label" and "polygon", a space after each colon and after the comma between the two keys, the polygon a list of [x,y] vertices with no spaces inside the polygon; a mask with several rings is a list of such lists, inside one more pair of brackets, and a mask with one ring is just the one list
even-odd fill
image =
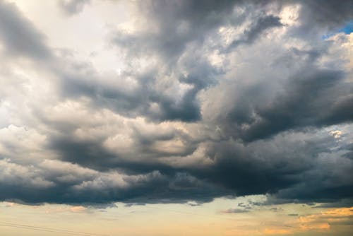
{"label": "blue-grey cloud band across the centre-left, darkest at its right end", "polygon": [[[100,83],[100,76],[85,65],[86,69],[76,71],[58,71],[62,78],[61,90],[64,96],[69,98],[88,97],[92,100],[92,105],[97,107],[107,107],[119,114],[128,117],[144,115],[153,121],[181,120],[184,122],[194,122],[201,119],[200,105],[197,100],[198,92],[215,84],[214,77],[222,73],[213,68],[208,61],[201,58],[202,55],[193,55],[180,61],[180,67],[187,70],[187,75],[181,74],[179,68],[175,68],[175,73],[166,72],[158,68],[151,68],[148,71],[137,73],[136,71],[126,71],[120,76],[111,76],[111,81],[124,81],[126,77],[133,77],[138,81],[136,88],[126,90],[124,85],[116,82]],[[194,59],[198,60],[196,63]],[[169,67],[167,67],[169,69]],[[167,70],[166,69],[166,70]],[[157,84],[160,77],[170,76],[175,81],[171,84]],[[124,83],[124,82],[123,82]],[[175,98],[167,90],[179,90],[186,87],[184,93]],[[153,107],[157,105],[157,107]]]}

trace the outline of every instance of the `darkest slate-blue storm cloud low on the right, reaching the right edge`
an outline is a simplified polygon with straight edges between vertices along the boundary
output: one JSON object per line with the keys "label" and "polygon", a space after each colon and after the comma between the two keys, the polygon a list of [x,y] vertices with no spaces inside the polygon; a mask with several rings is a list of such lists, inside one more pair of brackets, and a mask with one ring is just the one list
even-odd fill
{"label": "darkest slate-blue storm cloud low on the right, reaching the right edge", "polygon": [[209,151],[217,164],[204,175],[239,195],[268,193],[289,202],[352,197],[353,162],[331,153],[334,138],[280,139],[248,146],[217,143]]}

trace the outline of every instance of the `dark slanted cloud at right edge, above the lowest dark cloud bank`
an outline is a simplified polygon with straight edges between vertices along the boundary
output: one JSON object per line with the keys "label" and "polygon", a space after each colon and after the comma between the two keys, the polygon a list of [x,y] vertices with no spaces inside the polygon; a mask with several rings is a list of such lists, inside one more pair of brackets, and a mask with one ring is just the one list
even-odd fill
{"label": "dark slanted cloud at right edge, above the lowest dark cloud bank", "polygon": [[[256,121],[246,122],[250,124],[243,134],[245,141],[265,138],[297,126],[328,126],[352,119],[352,112],[346,109],[351,98],[349,91],[343,92],[342,86],[345,85],[340,84],[340,71],[308,71],[311,72],[294,75],[283,94],[277,95],[266,107],[254,111]],[[327,94],[333,99],[330,100]],[[325,112],[318,115],[316,111],[324,110],[324,107]]]}

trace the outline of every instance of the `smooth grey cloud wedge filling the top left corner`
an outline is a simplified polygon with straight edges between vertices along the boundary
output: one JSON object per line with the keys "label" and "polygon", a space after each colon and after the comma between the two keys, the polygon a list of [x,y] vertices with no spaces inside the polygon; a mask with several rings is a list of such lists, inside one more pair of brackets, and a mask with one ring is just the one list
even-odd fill
{"label": "smooth grey cloud wedge filling the top left corner", "polygon": [[15,4],[0,2],[0,40],[8,57],[30,57],[45,60],[52,54],[42,35]]}

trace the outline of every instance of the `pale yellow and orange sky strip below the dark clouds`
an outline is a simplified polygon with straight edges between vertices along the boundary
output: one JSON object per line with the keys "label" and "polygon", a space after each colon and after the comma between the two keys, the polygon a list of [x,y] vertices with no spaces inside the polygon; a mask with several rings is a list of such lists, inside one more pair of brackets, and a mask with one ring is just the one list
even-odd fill
{"label": "pale yellow and orange sky strip below the dark clouds", "polygon": [[[28,206],[0,203],[1,235],[69,235],[60,230],[103,235],[349,235],[353,230],[353,208],[320,208],[301,203],[252,206],[239,203],[263,196],[215,199],[199,206],[188,204],[147,204],[114,208],[87,208],[44,204]],[[41,227],[40,230],[4,225],[14,223]],[[2,224],[2,225],[1,225]],[[21,227],[21,226],[20,226]],[[54,230],[47,232],[42,230]],[[59,232],[58,232],[59,231]]]}

